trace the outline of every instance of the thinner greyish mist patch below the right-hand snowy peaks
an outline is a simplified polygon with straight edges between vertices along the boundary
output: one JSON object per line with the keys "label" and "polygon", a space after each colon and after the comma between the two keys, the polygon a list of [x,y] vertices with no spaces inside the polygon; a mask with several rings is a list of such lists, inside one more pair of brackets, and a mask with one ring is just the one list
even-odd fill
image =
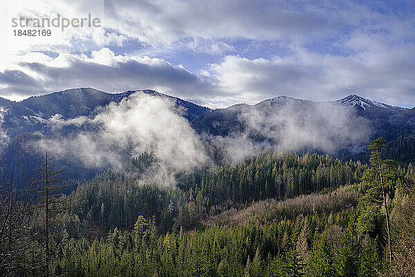
{"label": "thinner greyish mist patch below the right-hand snowy peaks", "polygon": [[[263,150],[275,152],[324,152],[337,154],[347,149],[358,152],[372,134],[369,120],[333,102],[294,100],[284,105],[264,101],[241,109],[238,121],[243,132],[210,136],[223,149],[226,161],[238,163]],[[353,146],[354,145],[354,146]]]}

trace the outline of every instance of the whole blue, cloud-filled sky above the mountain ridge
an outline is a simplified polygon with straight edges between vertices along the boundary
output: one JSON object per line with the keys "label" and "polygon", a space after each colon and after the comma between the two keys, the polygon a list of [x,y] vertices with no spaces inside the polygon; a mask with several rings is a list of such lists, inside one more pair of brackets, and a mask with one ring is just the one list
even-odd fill
{"label": "whole blue, cloud-filled sky above the mountain ridge", "polygon": [[[211,108],[349,94],[414,107],[414,14],[415,1],[399,0],[2,0],[0,97],[93,87],[154,89]],[[100,24],[12,21],[57,15]],[[15,36],[30,29],[50,36]]]}

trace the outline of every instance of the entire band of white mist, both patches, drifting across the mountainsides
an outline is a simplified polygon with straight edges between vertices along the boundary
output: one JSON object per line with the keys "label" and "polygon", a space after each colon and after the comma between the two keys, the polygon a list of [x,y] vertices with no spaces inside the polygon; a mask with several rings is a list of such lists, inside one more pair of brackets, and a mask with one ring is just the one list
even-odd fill
{"label": "entire band of white mist, both patches, drifting across the mountainsides", "polygon": [[[227,136],[197,134],[185,112],[169,98],[137,92],[96,109],[95,116],[38,118],[54,135],[44,136],[35,147],[86,168],[120,170],[124,161],[151,153],[154,163],[139,181],[172,186],[178,173],[212,166],[212,149],[219,151],[217,162],[238,163],[264,150],[334,155],[342,149],[358,151],[356,145],[365,145],[371,136],[368,120],[331,102],[288,98],[243,105],[237,114],[243,131]],[[66,136],[65,128],[72,130]]]}

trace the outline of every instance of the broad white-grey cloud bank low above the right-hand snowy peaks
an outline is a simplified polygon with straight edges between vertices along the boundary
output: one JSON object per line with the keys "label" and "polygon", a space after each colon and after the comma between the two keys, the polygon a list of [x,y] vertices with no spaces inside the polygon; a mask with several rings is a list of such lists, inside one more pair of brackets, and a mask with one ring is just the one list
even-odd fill
{"label": "broad white-grey cloud bank low above the right-hand snowy peaks", "polygon": [[334,100],[357,93],[393,105],[415,105],[414,46],[379,46],[348,57],[295,46],[289,57],[227,56],[210,66],[210,75],[223,91],[250,103],[277,95]]}

